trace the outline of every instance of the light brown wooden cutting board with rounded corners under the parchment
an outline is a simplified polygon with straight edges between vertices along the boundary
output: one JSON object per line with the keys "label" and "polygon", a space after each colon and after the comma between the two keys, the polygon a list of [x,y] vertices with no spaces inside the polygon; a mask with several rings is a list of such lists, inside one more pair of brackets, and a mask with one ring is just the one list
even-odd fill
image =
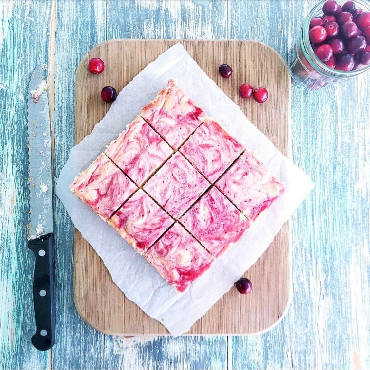
{"label": "light brown wooden cutting board with rounded corners under the parchment", "polygon": [[[75,82],[75,143],[90,134],[110,105],[100,99],[106,85],[120,91],[132,78],[177,40],[111,40],[97,45],[82,59]],[[290,156],[290,77],[283,59],[270,47],[252,41],[181,40],[188,53],[245,115],[276,146]],[[88,72],[92,57],[103,59],[104,73]],[[233,68],[222,79],[218,67]],[[269,91],[264,104],[241,99],[242,83]],[[217,119],[217,117],[215,117]],[[253,283],[248,295],[235,288],[226,293],[187,334],[250,334],[276,324],[291,296],[291,232],[287,222],[273,243],[245,274]],[[215,282],[217,283],[217,282]],[[74,232],[74,302],[81,317],[95,329],[112,335],[166,335],[158,321],[129,301],[112,282],[107,268],[77,229]],[[184,313],[186,315],[186,313]]]}

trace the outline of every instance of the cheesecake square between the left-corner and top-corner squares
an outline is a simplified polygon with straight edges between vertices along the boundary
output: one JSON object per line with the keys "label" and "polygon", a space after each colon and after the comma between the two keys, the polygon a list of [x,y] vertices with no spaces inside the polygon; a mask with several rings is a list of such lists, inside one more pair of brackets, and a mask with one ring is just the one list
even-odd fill
{"label": "cheesecake square between the left-corner and top-corner squares", "polygon": [[112,141],[105,154],[138,186],[173,153],[140,116],[137,116]]}

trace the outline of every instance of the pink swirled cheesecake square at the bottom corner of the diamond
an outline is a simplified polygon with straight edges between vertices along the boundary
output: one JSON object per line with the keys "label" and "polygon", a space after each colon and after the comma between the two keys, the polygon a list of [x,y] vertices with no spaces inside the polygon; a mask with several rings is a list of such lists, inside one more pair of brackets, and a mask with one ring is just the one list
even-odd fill
{"label": "pink swirled cheesecake square at the bottom corner of the diamond", "polygon": [[144,256],[179,292],[184,292],[215,261],[215,258],[178,223]]}

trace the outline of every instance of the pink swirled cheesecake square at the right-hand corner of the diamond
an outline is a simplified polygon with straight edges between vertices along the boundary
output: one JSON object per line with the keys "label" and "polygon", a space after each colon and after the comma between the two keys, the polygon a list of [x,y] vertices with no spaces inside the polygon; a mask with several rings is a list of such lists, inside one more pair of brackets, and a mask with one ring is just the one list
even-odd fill
{"label": "pink swirled cheesecake square at the right-hand corner of the diamond", "polygon": [[252,221],[285,189],[251,152],[240,156],[216,186]]}

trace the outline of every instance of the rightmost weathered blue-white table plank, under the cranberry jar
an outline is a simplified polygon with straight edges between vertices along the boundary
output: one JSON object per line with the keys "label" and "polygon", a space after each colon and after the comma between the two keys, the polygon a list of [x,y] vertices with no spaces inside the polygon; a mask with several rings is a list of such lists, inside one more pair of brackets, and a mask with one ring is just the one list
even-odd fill
{"label": "rightmost weathered blue-white table plank, under the cranberry jar", "polygon": [[[315,2],[234,1],[231,37],[258,38],[286,58]],[[293,159],[315,181],[293,217],[292,307],[270,332],[233,338],[235,369],[369,368],[369,82],[292,85]]]}

